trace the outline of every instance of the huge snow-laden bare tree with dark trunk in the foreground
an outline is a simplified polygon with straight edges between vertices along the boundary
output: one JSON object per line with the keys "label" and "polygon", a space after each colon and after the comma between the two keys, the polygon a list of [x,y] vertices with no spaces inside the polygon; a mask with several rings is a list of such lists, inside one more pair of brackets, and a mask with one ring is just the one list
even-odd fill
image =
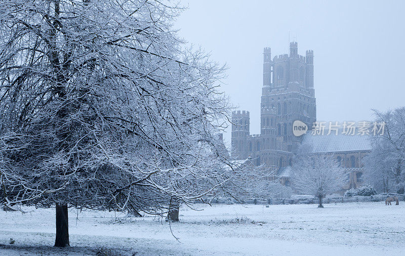
{"label": "huge snow-laden bare tree with dark trunk in the foreground", "polygon": [[219,153],[224,67],[185,48],[179,11],[156,0],[0,3],[0,200],[56,204],[55,246],[69,245],[68,205],[164,214],[254,183]]}

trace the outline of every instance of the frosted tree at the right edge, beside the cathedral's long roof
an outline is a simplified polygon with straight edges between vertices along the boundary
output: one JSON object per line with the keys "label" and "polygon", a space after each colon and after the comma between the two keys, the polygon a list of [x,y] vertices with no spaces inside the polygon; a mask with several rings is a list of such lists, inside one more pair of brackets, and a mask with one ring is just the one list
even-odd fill
{"label": "frosted tree at the right edge, beside the cathedral's long roof", "polygon": [[365,176],[376,189],[389,192],[405,181],[405,107],[374,114],[376,128],[384,130],[370,136],[372,152],[365,158]]}

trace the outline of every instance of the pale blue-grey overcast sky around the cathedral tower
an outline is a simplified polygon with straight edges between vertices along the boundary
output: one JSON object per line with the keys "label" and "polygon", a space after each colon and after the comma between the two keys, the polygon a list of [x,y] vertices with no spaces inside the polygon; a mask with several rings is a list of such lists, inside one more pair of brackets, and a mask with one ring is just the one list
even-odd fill
{"label": "pale blue-grey overcast sky around the cathedral tower", "polygon": [[229,66],[222,90],[250,111],[251,134],[260,133],[263,48],[288,53],[289,38],[300,55],[314,51],[317,120],[361,121],[372,108],[405,105],[405,1],[181,3],[179,35]]}

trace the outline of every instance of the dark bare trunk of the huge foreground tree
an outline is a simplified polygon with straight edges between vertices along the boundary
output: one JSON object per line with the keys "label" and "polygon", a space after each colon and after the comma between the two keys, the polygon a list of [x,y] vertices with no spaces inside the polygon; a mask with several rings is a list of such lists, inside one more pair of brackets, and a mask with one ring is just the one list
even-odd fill
{"label": "dark bare trunk of the huge foreground tree", "polygon": [[56,247],[66,247],[69,244],[69,224],[67,217],[67,204],[56,204]]}

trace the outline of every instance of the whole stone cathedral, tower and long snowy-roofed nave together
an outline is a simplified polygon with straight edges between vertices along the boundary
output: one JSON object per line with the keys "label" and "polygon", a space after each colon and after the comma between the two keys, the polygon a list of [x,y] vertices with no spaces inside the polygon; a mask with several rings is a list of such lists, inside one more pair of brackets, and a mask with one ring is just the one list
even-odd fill
{"label": "whole stone cathedral, tower and long snowy-roofed nave together", "polygon": [[234,111],[233,153],[239,160],[251,158],[255,165],[264,165],[287,185],[293,153],[303,142],[309,143],[314,146],[314,153],[337,156],[350,178],[346,189],[358,187],[364,171],[361,159],[371,150],[367,137],[332,138],[312,136],[311,132],[303,136],[293,134],[295,120],[305,123],[308,129],[316,121],[313,58],[312,50],[307,50],[305,56],[299,55],[297,42],[290,42],[290,54],[273,59],[271,49],[264,48],[260,134],[250,134],[249,111]]}

